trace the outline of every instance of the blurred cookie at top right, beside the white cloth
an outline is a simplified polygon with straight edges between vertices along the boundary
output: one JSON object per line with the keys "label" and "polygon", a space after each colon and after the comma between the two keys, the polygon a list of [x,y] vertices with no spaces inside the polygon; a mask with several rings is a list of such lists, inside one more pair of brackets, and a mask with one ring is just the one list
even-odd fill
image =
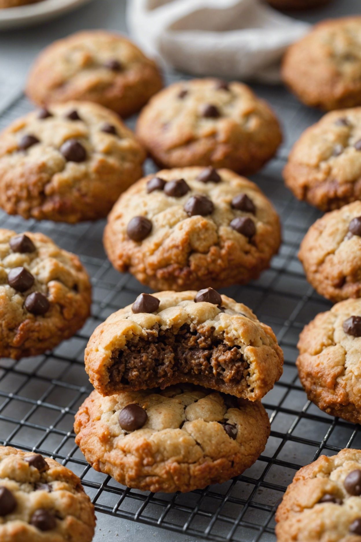
{"label": "blurred cookie at top right, beside the white cloth", "polygon": [[361,105],[361,17],[322,21],[288,48],[283,80],[306,105]]}

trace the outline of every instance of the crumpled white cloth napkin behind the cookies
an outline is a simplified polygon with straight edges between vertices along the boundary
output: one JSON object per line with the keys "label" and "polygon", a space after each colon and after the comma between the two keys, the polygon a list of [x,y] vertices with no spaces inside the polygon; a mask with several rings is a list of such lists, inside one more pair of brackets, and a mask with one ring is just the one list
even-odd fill
{"label": "crumpled white cloth napkin behind the cookies", "polygon": [[127,22],[146,53],[183,72],[268,82],[309,29],[261,0],[128,0]]}

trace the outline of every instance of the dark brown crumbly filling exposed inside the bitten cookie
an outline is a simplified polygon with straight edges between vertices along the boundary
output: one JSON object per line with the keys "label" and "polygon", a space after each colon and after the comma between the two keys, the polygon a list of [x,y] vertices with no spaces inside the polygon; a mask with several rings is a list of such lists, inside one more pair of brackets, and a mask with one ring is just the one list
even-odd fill
{"label": "dark brown crumbly filling exposed inside the bitten cookie", "polygon": [[232,390],[237,385],[241,393],[248,387],[248,363],[240,346],[225,344],[213,331],[184,325],[176,333],[155,328],[146,338],[134,336],[123,350],[113,351],[109,391],[116,384],[136,390],[193,382],[217,383]]}

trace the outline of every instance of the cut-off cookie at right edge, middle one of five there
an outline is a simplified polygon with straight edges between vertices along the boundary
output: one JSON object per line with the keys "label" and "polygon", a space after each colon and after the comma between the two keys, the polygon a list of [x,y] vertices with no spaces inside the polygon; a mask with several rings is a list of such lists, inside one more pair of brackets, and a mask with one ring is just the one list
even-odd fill
{"label": "cut-off cookie at right edge, middle one of five there", "polygon": [[307,280],[331,301],[361,297],[361,202],[315,222],[298,254]]}

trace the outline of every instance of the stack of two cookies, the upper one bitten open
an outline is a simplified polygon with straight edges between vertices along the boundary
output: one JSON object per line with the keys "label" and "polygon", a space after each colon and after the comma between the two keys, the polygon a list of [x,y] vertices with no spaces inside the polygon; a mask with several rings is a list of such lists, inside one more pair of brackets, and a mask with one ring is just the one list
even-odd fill
{"label": "stack of two cookies, the upper one bitten open", "polygon": [[214,289],[141,294],[96,328],[85,359],[95,390],[76,414],[76,442],[120,483],[192,491],[264,450],[259,400],[283,354],[270,327]]}

